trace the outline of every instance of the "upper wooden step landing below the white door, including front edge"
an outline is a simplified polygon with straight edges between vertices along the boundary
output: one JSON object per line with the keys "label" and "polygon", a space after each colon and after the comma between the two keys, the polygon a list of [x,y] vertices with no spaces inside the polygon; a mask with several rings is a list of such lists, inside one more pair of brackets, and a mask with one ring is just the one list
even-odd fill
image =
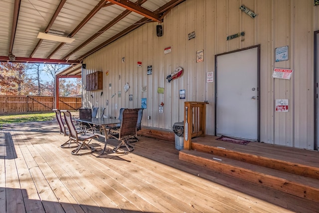
{"label": "upper wooden step landing below the white door, including front edge", "polygon": [[[290,149],[287,151],[286,147],[280,147],[278,151],[278,147],[269,144],[265,145],[263,143],[258,143],[258,146],[262,146],[263,151],[253,152],[253,150],[256,149],[256,147],[254,147],[256,144],[257,143],[249,143],[244,146],[214,141],[210,145],[207,145],[192,142],[192,149],[319,180],[319,153],[317,157],[317,152],[296,149],[300,151],[300,153],[296,152],[295,154],[289,155]],[[252,147],[254,147],[254,149],[252,149]],[[301,160],[302,158],[306,160]],[[317,164],[310,163],[309,160],[316,161]]]}

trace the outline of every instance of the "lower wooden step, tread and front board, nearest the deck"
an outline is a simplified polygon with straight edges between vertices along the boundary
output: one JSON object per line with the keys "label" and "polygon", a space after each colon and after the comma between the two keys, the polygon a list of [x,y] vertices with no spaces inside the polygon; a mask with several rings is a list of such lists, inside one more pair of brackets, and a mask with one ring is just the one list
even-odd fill
{"label": "lower wooden step, tread and front board, nearest the deck", "polygon": [[319,202],[319,181],[194,150],[179,152],[179,160]]}

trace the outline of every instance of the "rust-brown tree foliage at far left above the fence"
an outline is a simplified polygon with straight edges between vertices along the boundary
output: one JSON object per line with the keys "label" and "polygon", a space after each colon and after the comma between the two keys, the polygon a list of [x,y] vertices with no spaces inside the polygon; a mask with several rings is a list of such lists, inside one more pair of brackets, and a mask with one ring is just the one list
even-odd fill
{"label": "rust-brown tree foliage at far left above the fence", "polygon": [[0,63],[0,93],[21,95],[21,84],[28,66],[23,63]]}

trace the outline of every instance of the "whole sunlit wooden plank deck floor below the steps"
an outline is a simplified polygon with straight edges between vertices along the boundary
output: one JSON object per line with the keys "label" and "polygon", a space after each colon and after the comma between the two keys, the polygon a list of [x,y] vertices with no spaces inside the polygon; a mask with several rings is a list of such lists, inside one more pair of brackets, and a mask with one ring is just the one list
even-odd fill
{"label": "whole sunlit wooden plank deck floor below the steps", "polygon": [[100,155],[101,138],[95,153],[73,156],[56,123],[3,128],[0,212],[319,212],[317,202],[180,161],[173,142],[139,138],[128,155]]}

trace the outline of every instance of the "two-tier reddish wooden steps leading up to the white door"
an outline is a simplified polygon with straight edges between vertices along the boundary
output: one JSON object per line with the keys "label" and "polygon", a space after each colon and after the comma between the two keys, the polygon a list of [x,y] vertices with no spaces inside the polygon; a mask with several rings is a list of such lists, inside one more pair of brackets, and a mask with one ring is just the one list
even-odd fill
{"label": "two-tier reddish wooden steps leading up to the white door", "polygon": [[206,136],[192,139],[179,160],[319,203],[319,152]]}

